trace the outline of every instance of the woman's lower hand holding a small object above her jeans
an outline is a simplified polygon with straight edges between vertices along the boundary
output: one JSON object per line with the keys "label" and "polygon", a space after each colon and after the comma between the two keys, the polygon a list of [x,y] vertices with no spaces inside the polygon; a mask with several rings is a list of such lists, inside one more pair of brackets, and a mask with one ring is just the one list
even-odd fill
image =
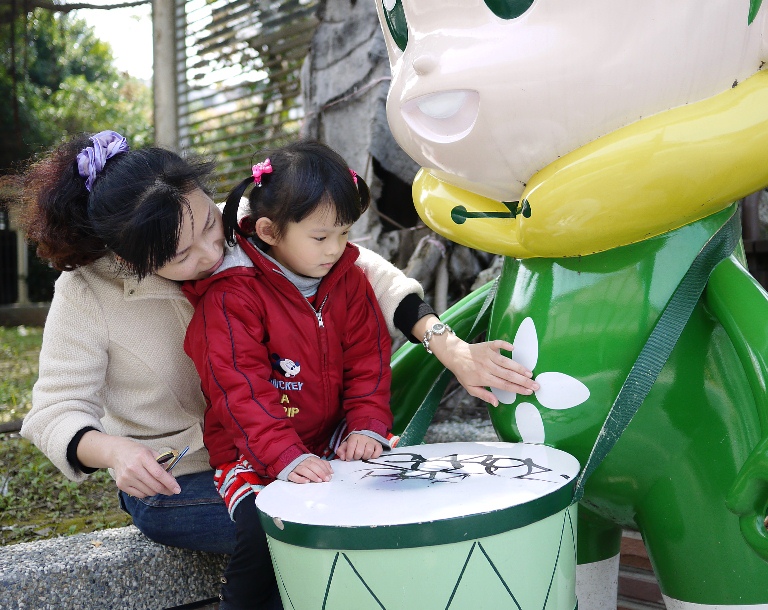
{"label": "woman's lower hand holding a small object above her jeans", "polygon": [[157,463],[157,455],[141,443],[96,430],[86,432],[77,446],[83,466],[112,468],[118,489],[136,498],[181,492],[173,475]]}

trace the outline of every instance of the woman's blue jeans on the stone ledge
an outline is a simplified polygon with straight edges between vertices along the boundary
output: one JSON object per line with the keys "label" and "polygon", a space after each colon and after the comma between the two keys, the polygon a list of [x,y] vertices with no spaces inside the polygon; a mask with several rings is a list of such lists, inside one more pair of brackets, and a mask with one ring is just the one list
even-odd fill
{"label": "woman's blue jeans on the stone ledge", "polygon": [[120,491],[120,507],[150,540],[193,551],[226,553],[235,550],[235,524],[213,484],[213,471],[176,479],[181,493],[133,498]]}

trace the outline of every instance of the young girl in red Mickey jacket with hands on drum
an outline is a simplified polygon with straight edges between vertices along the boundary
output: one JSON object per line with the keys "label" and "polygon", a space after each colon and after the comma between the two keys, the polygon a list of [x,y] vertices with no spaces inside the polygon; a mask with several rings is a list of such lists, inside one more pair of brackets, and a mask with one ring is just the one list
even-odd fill
{"label": "young girl in red Mickey jacket with hands on drum", "polygon": [[184,347],[202,379],[205,444],[238,532],[222,608],[261,607],[254,602],[275,587],[254,494],[274,479],[330,481],[328,458],[378,457],[392,445],[389,335],[347,243],[368,202],[365,182],[327,146],[275,150],[227,198],[233,248],[222,266],[185,285],[195,315]]}

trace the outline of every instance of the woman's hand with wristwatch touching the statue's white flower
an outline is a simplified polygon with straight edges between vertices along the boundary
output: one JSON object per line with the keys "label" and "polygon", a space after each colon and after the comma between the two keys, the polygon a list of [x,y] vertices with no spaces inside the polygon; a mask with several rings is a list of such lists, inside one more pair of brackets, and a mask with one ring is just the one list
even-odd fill
{"label": "woman's hand with wristwatch touching the statue's white flower", "polygon": [[[423,337],[426,329],[435,322],[439,320],[433,315],[421,318],[413,327],[414,337]],[[539,389],[531,371],[500,353],[500,350],[514,349],[507,341],[497,339],[484,343],[467,343],[446,332],[434,335],[429,341],[429,349],[456,376],[467,392],[494,407],[499,405],[499,400],[486,387],[516,394],[532,394]]]}

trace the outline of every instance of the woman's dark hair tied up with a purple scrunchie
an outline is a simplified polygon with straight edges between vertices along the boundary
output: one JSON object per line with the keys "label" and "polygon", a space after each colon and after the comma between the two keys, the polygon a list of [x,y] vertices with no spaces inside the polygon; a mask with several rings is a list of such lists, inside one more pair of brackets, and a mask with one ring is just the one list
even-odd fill
{"label": "woman's dark hair tied up with a purple scrunchie", "polygon": [[89,193],[76,161],[88,146],[88,135],[75,137],[15,177],[27,237],[60,271],[111,251],[146,277],[176,255],[186,196],[209,192],[214,164],[162,148],[128,150],[107,160]]}

